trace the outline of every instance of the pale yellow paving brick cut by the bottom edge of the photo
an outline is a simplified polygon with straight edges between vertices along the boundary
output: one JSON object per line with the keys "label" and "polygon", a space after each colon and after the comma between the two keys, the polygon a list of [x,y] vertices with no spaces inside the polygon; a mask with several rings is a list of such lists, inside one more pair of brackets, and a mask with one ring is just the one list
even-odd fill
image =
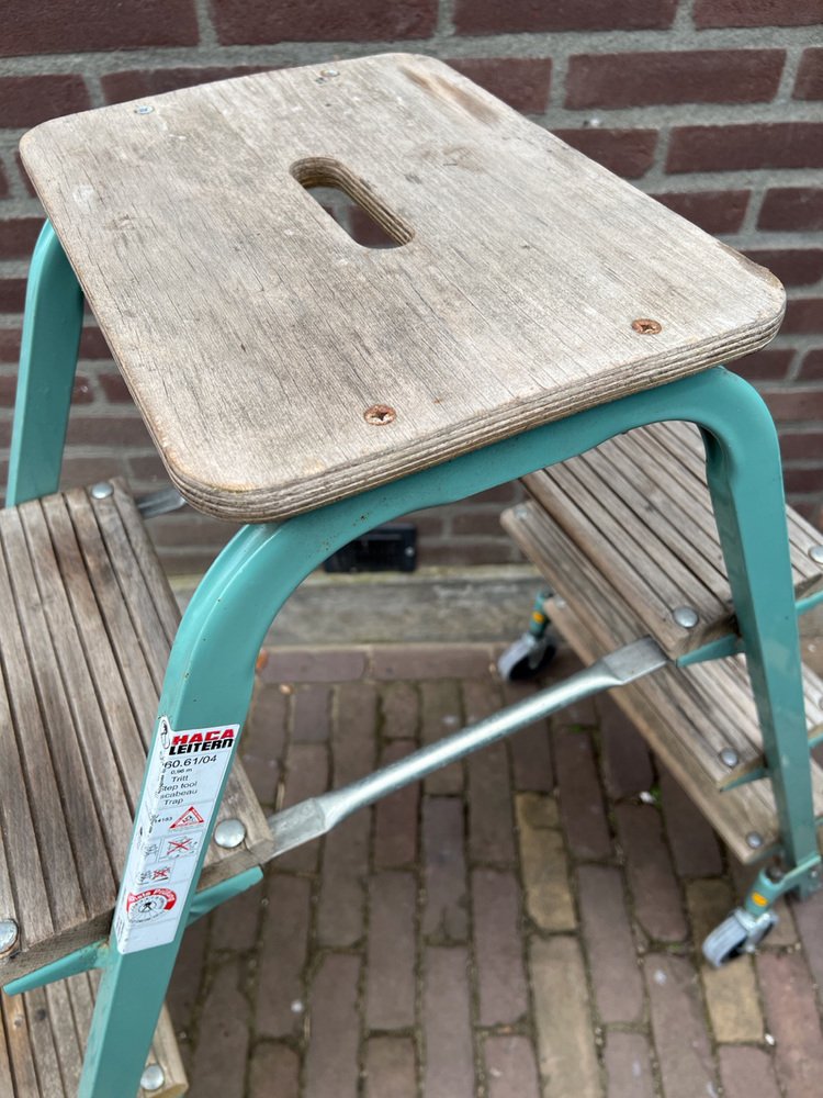
{"label": "pale yellow paving brick cut by the bottom edge of the photo", "polygon": [[594,1021],[574,938],[532,938],[529,967],[543,1098],[600,1094]]}

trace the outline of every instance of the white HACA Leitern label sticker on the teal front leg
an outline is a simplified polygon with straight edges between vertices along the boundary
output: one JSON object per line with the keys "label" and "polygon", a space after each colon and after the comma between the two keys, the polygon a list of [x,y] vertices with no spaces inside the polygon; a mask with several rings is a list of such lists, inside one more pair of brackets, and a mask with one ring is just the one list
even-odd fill
{"label": "white HACA Leitern label sticker on the teal front leg", "polygon": [[173,941],[239,725],[176,732],[160,718],[114,911],[121,953]]}

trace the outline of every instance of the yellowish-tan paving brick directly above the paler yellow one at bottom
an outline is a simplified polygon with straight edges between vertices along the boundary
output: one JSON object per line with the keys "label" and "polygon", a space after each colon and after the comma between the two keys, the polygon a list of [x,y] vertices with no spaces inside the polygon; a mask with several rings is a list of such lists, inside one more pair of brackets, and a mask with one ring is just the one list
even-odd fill
{"label": "yellowish-tan paving brick directly above the paler yellow one at bottom", "polygon": [[555,803],[539,793],[519,793],[515,804],[526,910],[541,930],[574,930],[577,919]]}

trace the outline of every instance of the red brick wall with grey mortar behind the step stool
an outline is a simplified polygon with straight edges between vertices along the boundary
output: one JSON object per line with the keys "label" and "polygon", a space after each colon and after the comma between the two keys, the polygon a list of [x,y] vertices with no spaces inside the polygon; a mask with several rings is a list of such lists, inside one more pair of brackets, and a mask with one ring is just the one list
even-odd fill
{"label": "red brick wall with grey mortar behind the step stool", "polygon": [[[820,522],[821,24],[823,0],[7,0],[0,446],[9,441],[26,257],[41,220],[16,158],[21,133],[56,114],[202,80],[410,49],[450,61],[783,280],[790,302],[780,334],[736,368],[779,423],[792,503]],[[162,482],[91,320],[75,403],[67,482],[115,473],[138,490]],[[420,515],[421,562],[516,559],[497,523],[515,491]],[[155,530],[178,572],[200,569],[226,534],[191,513]]]}

